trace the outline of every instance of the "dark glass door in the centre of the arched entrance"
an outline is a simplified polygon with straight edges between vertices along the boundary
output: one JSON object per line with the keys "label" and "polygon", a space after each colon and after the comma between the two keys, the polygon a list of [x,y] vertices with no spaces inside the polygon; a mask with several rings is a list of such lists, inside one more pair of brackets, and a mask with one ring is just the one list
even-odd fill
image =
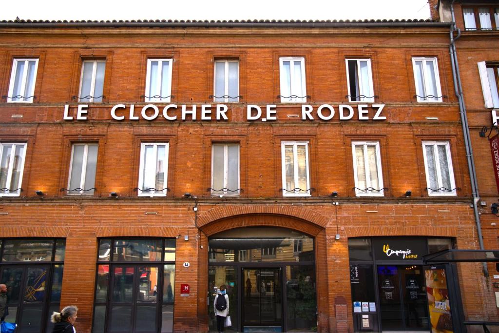
{"label": "dark glass door in the centre of the arched entrance", "polygon": [[282,326],[280,268],[243,268],[243,326]]}

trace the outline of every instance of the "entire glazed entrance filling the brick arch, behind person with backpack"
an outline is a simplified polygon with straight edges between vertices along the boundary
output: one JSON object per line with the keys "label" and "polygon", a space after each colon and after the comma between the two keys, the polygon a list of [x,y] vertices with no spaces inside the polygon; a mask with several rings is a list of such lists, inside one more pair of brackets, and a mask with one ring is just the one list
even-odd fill
{"label": "entire glazed entrance filling the brick arch, behind person with backpack", "polygon": [[314,238],[282,227],[240,227],[208,241],[210,330],[213,300],[227,286],[232,329],[287,332],[317,327]]}

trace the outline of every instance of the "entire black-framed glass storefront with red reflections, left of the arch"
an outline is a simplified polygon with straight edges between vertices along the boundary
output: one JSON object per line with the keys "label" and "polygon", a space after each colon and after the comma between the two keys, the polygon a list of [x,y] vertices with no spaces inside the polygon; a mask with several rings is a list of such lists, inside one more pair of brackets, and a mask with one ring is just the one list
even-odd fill
{"label": "entire black-framed glass storefront with red reflections, left of the arch", "polygon": [[93,333],[173,332],[175,245],[176,239],[99,240]]}

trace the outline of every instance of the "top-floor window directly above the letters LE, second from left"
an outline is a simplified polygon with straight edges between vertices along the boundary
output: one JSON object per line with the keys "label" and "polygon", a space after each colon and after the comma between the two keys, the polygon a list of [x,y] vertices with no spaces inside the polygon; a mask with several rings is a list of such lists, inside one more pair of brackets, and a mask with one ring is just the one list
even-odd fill
{"label": "top-floor window directly above the letters LE, second from left", "polygon": [[106,60],[84,60],[81,67],[80,102],[102,102]]}

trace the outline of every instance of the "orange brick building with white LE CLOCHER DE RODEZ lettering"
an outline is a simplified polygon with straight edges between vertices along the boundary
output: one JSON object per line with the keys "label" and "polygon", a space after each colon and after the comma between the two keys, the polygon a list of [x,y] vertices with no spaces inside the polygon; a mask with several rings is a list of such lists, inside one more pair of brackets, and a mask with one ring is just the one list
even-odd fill
{"label": "orange brick building with white LE CLOCHER DE RODEZ lettering", "polygon": [[7,320],[207,332],[225,284],[235,331],[429,329],[421,257],[480,248],[450,28],[0,22]]}

